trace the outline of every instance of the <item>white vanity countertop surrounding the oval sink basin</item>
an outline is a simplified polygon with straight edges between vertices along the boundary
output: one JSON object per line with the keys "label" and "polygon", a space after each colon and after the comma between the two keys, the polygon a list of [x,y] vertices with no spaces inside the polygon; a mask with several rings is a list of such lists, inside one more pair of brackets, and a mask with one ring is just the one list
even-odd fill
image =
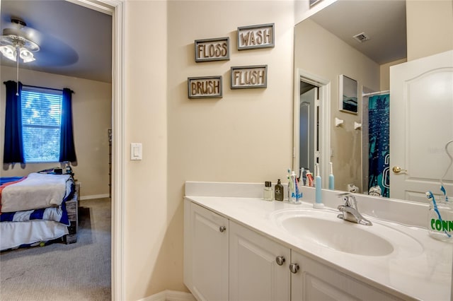
{"label": "white vanity countertop surrounding the oval sink basin", "polygon": [[[187,192],[188,189],[186,194]],[[403,226],[364,215],[376,225],[375,229],[379,227],[397,229],[420,244],[411,250],[397,247],[394,252],[385,256],[363,256],[297,239],[276,224],[273,218],[275,211],[313,209],[312,203],[309,202],[294,205],[287,201],[264,201],[258,197],[190,195],[185,197],[301,254],[317,259],[343,273],[350,273],[360,281],[396,293],[403,299],[411,297],[430,301],[450,300],[453,244],[429,237],[428,231],[424,228]]]}

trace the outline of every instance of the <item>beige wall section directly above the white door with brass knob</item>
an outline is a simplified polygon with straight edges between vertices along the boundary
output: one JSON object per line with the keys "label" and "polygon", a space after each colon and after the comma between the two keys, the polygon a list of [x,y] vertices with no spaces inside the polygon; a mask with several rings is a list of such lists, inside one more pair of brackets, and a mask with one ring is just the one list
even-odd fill
{"label": "beige wall section directly above the white door with brass knob", "polygon": [[406,0],[408,61],[453,49],[453,1]]}

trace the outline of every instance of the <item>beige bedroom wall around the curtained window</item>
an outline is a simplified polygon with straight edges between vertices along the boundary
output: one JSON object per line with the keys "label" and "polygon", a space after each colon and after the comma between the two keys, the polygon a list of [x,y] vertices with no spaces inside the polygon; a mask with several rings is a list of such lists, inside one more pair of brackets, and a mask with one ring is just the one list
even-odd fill
{"label": "beige bedroom wall around the curtained window", "polygon": [[[81,197],[108,196],[108,129],[111,128],[112,85],[99,81],[88,81],[81,78],[57,76],[21,69],[19,80],[24,85],[37,85],[48,88],[70,88],[72,95],[74,144],[77,162],[73,166],[75,178],[82,183]],[[1,82],[16,81],[16,69],[1,66]],[[5,112],[5,85],[1,85],[1,119]],[[4,155],[4,122],[0,123],[0,160]],[[29,163],[22,168],[16,164],[8,169],[3,167],[1,177],[25,176],[47,168],[59,167],[59,163]]]}

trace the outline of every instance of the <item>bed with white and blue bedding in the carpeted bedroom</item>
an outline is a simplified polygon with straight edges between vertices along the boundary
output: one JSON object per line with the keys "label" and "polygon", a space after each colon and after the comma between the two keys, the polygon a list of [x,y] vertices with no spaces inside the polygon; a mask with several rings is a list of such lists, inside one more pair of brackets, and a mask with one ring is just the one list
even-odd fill
{"label": "bed with white and blue bedding in the carpeted bedroom", "polygon": [[0,251],[76,242],[78,199],[71,175],[0,177]]}

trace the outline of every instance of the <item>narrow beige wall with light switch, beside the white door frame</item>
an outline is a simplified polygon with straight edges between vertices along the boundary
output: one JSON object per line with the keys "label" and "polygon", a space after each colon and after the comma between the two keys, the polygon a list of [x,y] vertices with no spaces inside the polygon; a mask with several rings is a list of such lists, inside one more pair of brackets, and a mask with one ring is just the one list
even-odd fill
{"label": "narrow beige wall with light switch, beside the white door frame", "polygon": [[[142,143],[143,159],[125,161],[124,252],[126,300],[139,300],[166,288],[167,198],[167,8],[166,1],[125,2],[125,157],[130,143]],[[166,240],[164,242],[164,240]],[[175,258],[176,261],[181,261]]]}

